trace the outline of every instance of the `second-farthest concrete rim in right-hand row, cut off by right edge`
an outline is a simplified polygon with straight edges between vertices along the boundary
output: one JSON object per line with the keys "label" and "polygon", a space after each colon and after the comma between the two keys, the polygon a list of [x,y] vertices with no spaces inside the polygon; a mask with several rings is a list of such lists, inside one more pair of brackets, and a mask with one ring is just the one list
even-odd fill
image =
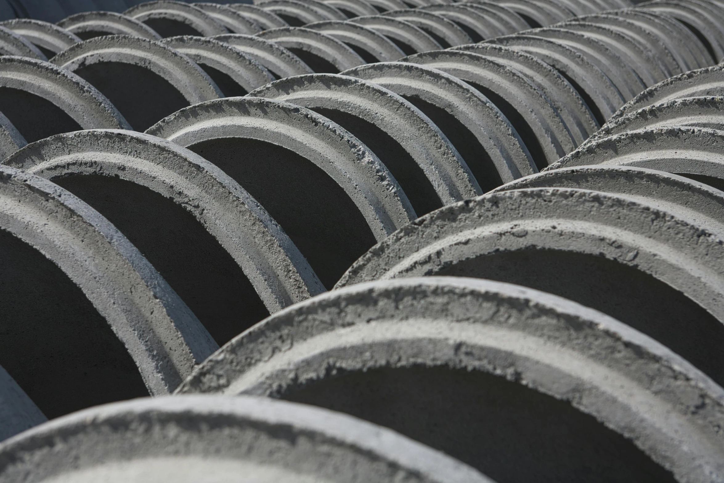
{"label": "second-farthest concrete rim in right-hand row, cut off by right edge", "polygon": [[601,130],[586,140],[597,140],[626,131],[657,127],[710,127],[724,126],[724,97],[686,97],[628,111],[617,119],[607,122]]}

